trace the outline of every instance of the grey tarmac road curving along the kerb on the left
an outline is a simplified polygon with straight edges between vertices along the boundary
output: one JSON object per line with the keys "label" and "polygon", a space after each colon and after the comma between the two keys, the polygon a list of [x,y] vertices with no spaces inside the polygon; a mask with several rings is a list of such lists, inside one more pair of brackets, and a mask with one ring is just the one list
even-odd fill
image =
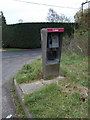
{"label": "grey tarmac road curving along the kerb on the left", "polygon": [[[26,63],[41,56],[41,50],[3,51],[2,52],[2,118],[16,116],[15,106],[11,98],[11,78]],[[1,59],[1,58],[0,58]]]}

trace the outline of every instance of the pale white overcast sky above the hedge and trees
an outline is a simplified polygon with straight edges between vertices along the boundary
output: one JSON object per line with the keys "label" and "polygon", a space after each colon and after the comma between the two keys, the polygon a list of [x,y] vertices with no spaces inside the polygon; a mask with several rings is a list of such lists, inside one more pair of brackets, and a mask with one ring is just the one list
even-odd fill
{"label": "pale white overcast sky above the hedge and trees", "polygon": [[[39,4],[24,3],[16,0],[0,0],[0,11],[3,11],[7,24],[18,23],[20,19],[23,22],[46,22],[46,16],[49,8],[52,8],[58,14],[65,14],[67,17],[73,17],[80,9],[82,2],[86,0],[21,0]],[[52,6],[46,6],[47,4]],[[57,7],[53,7],[57,6]],[[60,7],[59,7],[60,6]]]}

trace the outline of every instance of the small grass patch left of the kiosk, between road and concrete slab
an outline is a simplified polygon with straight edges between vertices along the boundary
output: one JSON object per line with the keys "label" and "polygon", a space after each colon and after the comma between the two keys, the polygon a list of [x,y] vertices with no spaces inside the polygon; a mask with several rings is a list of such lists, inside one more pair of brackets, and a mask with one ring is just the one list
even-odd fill
{"label": "small grass patch left of the kiosk, between road and concrete slab", "polygon": [[19,84],[40,80],[42,78],[41,59],[38,58],[32,63],[24,65],[15,78]]}

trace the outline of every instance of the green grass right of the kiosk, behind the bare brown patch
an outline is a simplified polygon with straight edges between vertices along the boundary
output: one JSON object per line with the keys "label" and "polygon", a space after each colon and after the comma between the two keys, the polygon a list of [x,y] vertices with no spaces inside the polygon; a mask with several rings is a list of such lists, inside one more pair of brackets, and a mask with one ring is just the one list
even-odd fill
{"label": "green grass right of the kiosk, behind the bare brown patch", "polygon": [[63,55],[60,65],[61,73],[66,78],[83,86],[88,86],[88,58],[78,55]]}

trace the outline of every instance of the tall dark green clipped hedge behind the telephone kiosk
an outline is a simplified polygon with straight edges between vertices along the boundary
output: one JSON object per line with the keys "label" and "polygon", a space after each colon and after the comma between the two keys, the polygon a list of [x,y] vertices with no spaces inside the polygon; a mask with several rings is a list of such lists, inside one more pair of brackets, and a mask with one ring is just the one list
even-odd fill
{"label": "tall dark green clipped hedge behind the telephone kiosk", "polygon": [[42,28],[64,28],[64,35],[71,36],[74,23],[19,23],[4,25],[2,30],[3,48],[40,48]]}

